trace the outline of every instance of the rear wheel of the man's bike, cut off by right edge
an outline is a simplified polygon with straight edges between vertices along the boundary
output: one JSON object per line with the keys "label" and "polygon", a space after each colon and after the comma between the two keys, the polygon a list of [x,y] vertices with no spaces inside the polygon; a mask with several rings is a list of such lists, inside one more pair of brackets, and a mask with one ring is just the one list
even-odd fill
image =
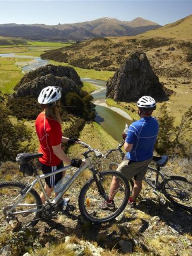
{"label": "rear wheel of the man's bike, cut off by right edge", "polygon": [[192,211],[192,183],[182,177],[172,177],[162,183],[163,194],[173,204]]}

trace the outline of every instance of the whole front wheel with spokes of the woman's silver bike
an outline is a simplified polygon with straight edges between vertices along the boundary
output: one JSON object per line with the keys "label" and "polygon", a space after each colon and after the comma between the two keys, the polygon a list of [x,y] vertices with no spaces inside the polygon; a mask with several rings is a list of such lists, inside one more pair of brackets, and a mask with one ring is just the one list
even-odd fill
{"label": "whole front wheel with spokes of the woman's silver bike", "polygon": [[[110,170],[100,172],[99,176],[102,191],[106,196],[109,193],[113,194],[115,207],[113,210],[103,210],[99,207],[99,203],[105,201],[105,198],[99,191],[96,180],[94,178],[89,180],[80,192],[79,210],[84,218],[94,223],[108,222],[116,218],[124,210],[130,195],[129,183],[121,173]],[[118,186],[111,190],[110,186],[114,178],[116,178]]]}

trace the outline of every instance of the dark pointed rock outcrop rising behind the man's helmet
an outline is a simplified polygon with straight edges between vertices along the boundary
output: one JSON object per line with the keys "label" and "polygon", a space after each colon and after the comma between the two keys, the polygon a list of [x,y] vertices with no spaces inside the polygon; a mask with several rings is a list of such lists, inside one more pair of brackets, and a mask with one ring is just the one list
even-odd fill
{"label": "dark pointed rock outcrop rising behind the man's helmet", "polygon": [[154,74],[145,53],[130,54],[123,65],[106,83],[106,97],[115,101],[137,101],[148,95],[155,100],[168,100],[172,93],[166,89]]}

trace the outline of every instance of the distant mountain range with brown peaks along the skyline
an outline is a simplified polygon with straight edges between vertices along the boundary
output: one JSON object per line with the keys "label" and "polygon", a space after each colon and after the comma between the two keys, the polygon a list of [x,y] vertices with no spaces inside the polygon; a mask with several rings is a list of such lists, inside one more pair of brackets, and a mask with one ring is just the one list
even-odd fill
{"label": "distant mountain range with brown peaks along the skyline", "polygon": [[0,24],[0,36],[14,36],[31,40],[86,40],[99,36],[135,36],[161,27],[156,22],[140,17],[120,21],[104,17],[74,24]]}

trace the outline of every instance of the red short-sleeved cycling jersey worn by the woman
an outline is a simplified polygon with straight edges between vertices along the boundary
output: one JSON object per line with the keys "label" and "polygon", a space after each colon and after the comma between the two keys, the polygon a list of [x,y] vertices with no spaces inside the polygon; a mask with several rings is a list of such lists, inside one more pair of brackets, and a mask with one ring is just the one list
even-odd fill
{"label": "red short-sleeved cycling jersey worn by the woman", "polygon": [[35,128],[39,138],[39,152],[43,153],[43,156],[39,158],[39,162],[54,166],[61,162],[54,153],[52,146],[56,146],[62,141],[61,125],[56,120],[45,117],[45,113],[41,112],[36,121]]}

